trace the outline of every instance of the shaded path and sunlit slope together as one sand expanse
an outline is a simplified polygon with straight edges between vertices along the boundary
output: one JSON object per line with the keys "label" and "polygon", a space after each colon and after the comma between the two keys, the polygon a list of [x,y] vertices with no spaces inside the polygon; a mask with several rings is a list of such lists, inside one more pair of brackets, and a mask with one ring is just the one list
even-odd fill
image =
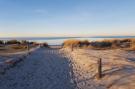
{"label": "shaded path and sunlit slope together as one sand expanse", "polygon": [[[102,58],[103,77],[96,78]],[[0,89],[134,89],[135,52],[38,48],[0,75]]]}

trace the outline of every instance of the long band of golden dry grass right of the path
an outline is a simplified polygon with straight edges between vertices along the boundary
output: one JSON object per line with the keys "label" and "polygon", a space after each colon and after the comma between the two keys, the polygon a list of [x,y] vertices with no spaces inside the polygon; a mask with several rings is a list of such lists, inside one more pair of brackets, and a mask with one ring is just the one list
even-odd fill
{"label": "long band of golden dry grass right of the path", "polygon": [[109,39],[89,42],[87,40],[66,40],[63,47],[79,47],[91,49],[130,49],[135,50],[135,39]]}

